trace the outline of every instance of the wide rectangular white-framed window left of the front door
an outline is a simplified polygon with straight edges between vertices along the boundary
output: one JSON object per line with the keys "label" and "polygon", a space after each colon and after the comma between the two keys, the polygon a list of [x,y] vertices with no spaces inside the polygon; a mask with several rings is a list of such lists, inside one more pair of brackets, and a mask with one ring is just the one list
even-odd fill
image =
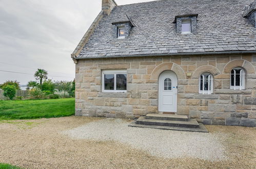
{"label": "wide rectangular white-framed window left of the front door", "polygon": [[127,70],[103,70],[102,71],[103,92],[126,92]]}

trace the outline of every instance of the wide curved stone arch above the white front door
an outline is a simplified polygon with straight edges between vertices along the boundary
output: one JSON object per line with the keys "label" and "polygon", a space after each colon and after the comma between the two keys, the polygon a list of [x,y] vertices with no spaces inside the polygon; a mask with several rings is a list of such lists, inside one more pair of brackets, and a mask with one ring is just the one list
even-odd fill
{"label": "wide curved stone arch above the white front door", "polygon": [[172,62],[166,62],[154,68],[151,74],[151,80],[158,79],[159,75],[166,70],[173,71],[178,79],[186,79],[185,72],[179,65]]}

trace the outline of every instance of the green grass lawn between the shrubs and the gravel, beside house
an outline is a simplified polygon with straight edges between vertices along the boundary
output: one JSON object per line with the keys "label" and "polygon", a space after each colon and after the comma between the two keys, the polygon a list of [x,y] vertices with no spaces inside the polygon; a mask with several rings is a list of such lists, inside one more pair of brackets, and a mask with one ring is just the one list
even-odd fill
{"label": "green grass lawn between the shrubs and the gravel, beside house", "polygon": [[0,120],[51,118],[74,115],[74,98],[0,100]]}

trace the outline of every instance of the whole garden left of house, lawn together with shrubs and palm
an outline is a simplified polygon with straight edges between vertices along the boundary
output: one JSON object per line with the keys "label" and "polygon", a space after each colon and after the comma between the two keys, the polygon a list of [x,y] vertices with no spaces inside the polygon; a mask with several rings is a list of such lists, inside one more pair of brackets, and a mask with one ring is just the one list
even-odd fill
{"label": "whole garden left of house, lawn together with shrubs and palm", "polygon": [[0,85],[5,98],[0,100],[0,121],[36,119],[74,115],[74,81],[52,81],[47,71],[38,69],[35,81],[29,81],[27,97],[16,96],[19,82],[6,81]]}

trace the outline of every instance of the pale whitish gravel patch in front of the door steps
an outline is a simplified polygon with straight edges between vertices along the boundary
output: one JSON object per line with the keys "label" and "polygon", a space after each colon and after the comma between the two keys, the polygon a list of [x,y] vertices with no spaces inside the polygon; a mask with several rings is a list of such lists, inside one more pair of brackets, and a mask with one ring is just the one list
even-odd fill
{"label": "pale whitish gravel patch in front of the door steps", "polygon": [[65,131],[74,139],[119,141],[151,155],[165,158],[193,157],[224,160],[224,146],[217,135],[157,129],[131,128],[122,119],[104,119]]}

